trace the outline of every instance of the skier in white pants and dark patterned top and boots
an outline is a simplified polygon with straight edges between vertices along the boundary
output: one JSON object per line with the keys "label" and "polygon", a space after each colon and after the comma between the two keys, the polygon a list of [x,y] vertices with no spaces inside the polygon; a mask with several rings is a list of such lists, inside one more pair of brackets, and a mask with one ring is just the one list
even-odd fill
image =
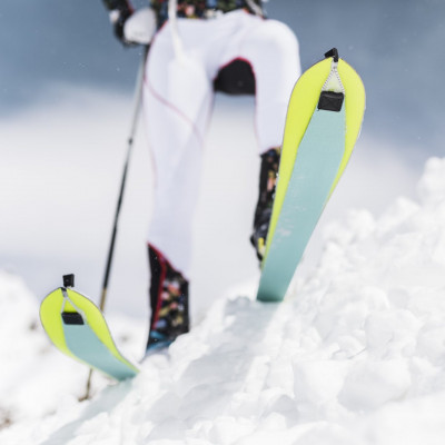
{"label": "skier in white pants and dark patterned top and boots", "polygon": [[261,167],[250,241],[261,259],[299,49],[287,26],[265,18],[261,0],[151,0],[137,11],[127,0],[102,1],[119,40],[151,42],[144,85],[157,172],[148,236],[148,353],[189,330],[192,217],[215,90],[256,95]]}

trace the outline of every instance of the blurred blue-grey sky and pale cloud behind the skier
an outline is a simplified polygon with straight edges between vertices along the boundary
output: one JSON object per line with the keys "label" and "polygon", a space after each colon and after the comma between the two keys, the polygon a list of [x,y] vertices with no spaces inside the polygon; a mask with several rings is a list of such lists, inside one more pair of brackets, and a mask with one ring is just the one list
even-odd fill
{"label": "blurred blue-grey sky and pale cloud behind the skier", "polygon": [[[304,70],[337,47],[367,91],[362,137],[304,276],[329,220],[354,208],[378,218],[398,196],[415,199],[425,160],[444,155],[445,2],[270,0],[266,8],[297,34]],[[113,38],[100,0],[1,0],[0,269],[21,276],[39,299],[67,273],[99,296],[140,56]],[[216,98],[195,226],[196,320],[215,298],[258,278],[248,243],[259,168],[254,105]],[[155,178],[142,125],[129,175],[108,310],[147,317]]]}

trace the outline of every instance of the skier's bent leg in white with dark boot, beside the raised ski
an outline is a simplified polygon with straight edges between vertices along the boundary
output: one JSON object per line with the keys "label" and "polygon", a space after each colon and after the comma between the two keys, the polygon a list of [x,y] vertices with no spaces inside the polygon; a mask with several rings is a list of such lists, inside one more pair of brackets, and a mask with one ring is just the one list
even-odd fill
{"label": "skier's bent leg in white with dark boot, beside the raised ski", "polygon": [[253,67],[256,80],[256,130],[261,157],[259,197],[250,241],[263,258],[278,174],[286,112],[291,90],[300,76],[298,41],[293,31],[275,20],[247,19],[250,31],[240,56]]}

